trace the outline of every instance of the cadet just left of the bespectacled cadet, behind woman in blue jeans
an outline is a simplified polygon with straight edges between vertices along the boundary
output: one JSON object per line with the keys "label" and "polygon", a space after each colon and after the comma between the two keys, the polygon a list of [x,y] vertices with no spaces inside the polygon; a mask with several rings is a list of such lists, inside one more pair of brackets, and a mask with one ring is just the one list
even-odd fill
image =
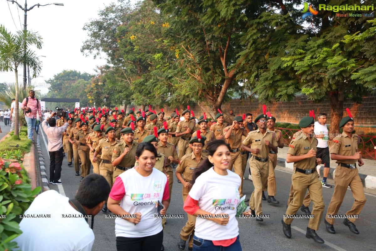
{"label": "cadet just left of the bespectacled cadet, behind woman in blue jeans", "polygon": [[[243,116],[245,117],[245,115]],[[233,118],[232,125],[227,126],[223,129],[224,138],[227,144],[230,145],[230,154],[231,154],[231,164],[229,169],[232,170],[232,167],[235,170],[235,173],[241,178],[241,185],[239,187],[240,197],[243,196],[243,151],[241,149],[242,137],[247,136],[247,131],[244,128],[240,128],[243,124],[243,117],[236,116]],[[244,152],[245,155],[245,152]]]}

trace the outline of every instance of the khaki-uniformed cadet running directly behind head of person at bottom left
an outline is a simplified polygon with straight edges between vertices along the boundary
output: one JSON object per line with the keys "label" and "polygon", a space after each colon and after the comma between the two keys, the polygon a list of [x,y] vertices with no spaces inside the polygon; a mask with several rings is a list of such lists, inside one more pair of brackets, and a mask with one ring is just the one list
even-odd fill
{"label": "khaki-uniformed cadet running directly behind head of person at bottom left", "polygon": [[[115,128],[109,126],[106,130],[107,138],[100,141],[95,149],[93,161],[97,162],[97,155],[101,154],[102,161],[99,163],[99,174],[102,175],[110,187],[113,185],[112,175],[114,173],[114,167],[112,166],[112,152],[115,145],[120,141],[115,140]],[[102,207],[102,212],[107,212],[107,201]]]}

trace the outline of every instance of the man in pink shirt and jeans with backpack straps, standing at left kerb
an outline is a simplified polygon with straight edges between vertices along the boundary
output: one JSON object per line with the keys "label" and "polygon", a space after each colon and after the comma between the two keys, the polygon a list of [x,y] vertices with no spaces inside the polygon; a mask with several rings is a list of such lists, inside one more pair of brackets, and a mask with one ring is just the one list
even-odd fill
{"label": "man in pink shirt and jeans with backpack straps, standing at left kerb", "polygon": [[[33,141],[33,129],[35,128],[36,113],[39,114],[39,117],[42,117],[41,103],[38,99],[35,98],[35,91],[29,91],[29,97],[24,98],[21,108],[25,112],[25,119],[27,123],[27,138]],[[33,143],[36,142],[33,141]]]}

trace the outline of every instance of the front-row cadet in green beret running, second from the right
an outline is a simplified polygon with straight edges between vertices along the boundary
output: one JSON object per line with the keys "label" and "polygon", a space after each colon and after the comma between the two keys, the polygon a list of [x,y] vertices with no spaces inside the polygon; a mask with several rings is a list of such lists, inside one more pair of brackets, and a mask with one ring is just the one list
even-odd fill
{"label": "front-row cadet in green beret running, second from the right", "polygon": [[320,227],[325,205],[321,181],[318,180],[319,175],[316,171],[316,166],[321,164],[321,159],[316,158],[318,141],[314,137],[314,123],[312,117],[303,117],[300,120],[299,127],[302,128],[302,134],[291,141],[287,152],[286,162],[294,162],[294,172],[291,177],[294,197],[287,207],[286,217],[282,219],[282,230],[286,237],[291,238],[292,217],[302,205],[308,189],[313,201],[313,218],[309,219],[306,237],[312,238],[317,243],[324,243],[324,240],[316,233]]}

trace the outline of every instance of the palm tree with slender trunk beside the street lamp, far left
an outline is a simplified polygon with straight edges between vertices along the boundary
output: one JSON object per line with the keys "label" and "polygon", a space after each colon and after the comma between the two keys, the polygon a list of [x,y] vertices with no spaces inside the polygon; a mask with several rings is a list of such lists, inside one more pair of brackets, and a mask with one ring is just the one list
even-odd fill
{"label": "palm tree with slender trunk beside the street lamp, far left", "polygon": [[18,136],[18,66],[29,65],[33,78],[41,72],[41,61],[33,50],[24,53],[24,47],[35,46],[42,48],[42,38],[36,32],[18,30],[16,35],[9,32],[0,24],[0,71],[14,71],[15,75],[15,121],[14,134]]}

